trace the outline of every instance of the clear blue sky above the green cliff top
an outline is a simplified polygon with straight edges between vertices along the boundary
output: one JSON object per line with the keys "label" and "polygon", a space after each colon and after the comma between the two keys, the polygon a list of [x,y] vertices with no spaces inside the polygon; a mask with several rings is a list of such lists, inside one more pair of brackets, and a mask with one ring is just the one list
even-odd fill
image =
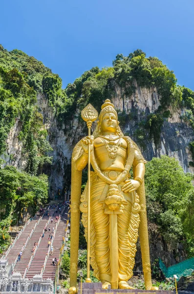
{"label": "clear blue sky above the green cliff top", "polygon": [[1,0],[0,11],[0,44],[41,60],[64,87],[142,49],[194,90],[194,0]]}

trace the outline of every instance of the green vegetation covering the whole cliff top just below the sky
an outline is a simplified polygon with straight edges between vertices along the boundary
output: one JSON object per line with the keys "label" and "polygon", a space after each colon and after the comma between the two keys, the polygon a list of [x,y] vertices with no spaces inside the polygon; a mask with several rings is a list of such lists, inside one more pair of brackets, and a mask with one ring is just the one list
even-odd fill
{"label": "green vegetation covering the whole cliff top just below the sky", "polygon": [[[76,108],[82,109],[89,102],[99,111],[106,98],[115,96],[115,86],[121,87],[123,98],[132,95],[136,86],[156,87],[160,98],[160,106],[155,113],[150,116],[143,116],[139,125],[141,132],[148,132],[153,138],[155,145],[159,143],[159,136],[164,118],[171,115],[167,107],[175,108],[186,106],[188,112],[183,119],[194,125],[194,92],[185,87],[177,85],[177,80],[172,71],[164,65],[157,57],[146,57],[146,53],[140,49],[135,50],[128,56],[117,54],[113,61],[113,67],[100,70],[94,67],[75,79],[72,84],[68,84],[62,89],[62,80],[58,74],[54,74],[50,69],[44,67],[43,63],[30,57],[21,50],[8,52],[0,47],[0,93],[1,93],[1,125],[0,125],[0,152],[5,149],[5,139],[13,126],[16,117],[22,121],[22,131],[20,138],[27,146],[26,154],[31,156],[31,161],[36,161],[37,154],[40,155],[30,129],[30,123],[34,121],[36,125],[35,106],[37,94],[43,95],[48,105],[53,109],[59,125],[67,119],[72,118]],[[41,115],[40,115],[41,116]],[[133,119],[134,113],[126,114],[125,110],[120,113],[119,118],[122,123]],[[6,126],[3,126],[6,122]],[[43,128],[43,126],[42,126]],[[146,132],[145,132],[146,130]],[[30,133],[30,135],[29,135]],[[28,134],[28,135],[27,135]],[[138,137],[141,134],[137,134]],[[46,139],[46,133],[41,135]],[[29,149],[31,141],[34,140],[34,147]],[[28,144],[28,141],[29,144]],[[142,142],[142,140],[140,140]],[[143,144],[142,144],[143,147]],[[28,150],[29,149],[29,150]],[[44,148],[44,153],[49,148]],[[49,162],[49,158],[44,154],[41,163]],[[37,163],[35,163],[37,166]],[[36,173],[37,168],[30,165],[29,170]]]}

